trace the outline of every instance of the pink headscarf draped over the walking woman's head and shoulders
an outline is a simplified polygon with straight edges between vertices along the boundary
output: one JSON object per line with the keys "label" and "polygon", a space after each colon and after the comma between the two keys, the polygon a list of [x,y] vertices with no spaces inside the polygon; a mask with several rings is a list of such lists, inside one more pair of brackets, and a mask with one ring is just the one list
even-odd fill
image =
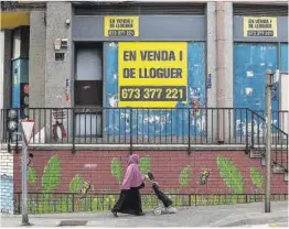
{"label": "pink headscarf draped over the walking woman's head and shoulders", "polygon": [[144,176],[139,171],[140,156],[138,154],[132,154],[128,160],[128,168],[122,182],[121,189],[130,189],[130,187],[139,187],[144,181]]}

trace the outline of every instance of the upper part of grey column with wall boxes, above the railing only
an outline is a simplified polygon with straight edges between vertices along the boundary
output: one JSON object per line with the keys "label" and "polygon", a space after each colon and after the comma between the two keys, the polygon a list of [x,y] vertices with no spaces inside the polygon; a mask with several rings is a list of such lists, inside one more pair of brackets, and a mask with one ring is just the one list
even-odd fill
{"label": "upper part of grey column with wall boxes, above the railing only", "polygon": [[[66,79],[72,79],[73,47],[71,2],[47,2],[46,4],[46,76],[45,107],[69,107],[65,99]],[[55,39],[67,39],[67,48],[54,50]],[[64,53],[63,61],[55,61],[55,53]]]}

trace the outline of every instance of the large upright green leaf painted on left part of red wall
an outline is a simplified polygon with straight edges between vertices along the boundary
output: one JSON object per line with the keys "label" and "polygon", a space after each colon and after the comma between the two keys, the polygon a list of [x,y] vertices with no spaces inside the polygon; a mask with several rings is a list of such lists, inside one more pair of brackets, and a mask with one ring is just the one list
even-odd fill
{"label": "large upright green leaf painted on left part of red wall", "polygon": [[58,187],[61,182],[61,161],[53,155],[43,171],[42,186],[45,193],[51,193]]}

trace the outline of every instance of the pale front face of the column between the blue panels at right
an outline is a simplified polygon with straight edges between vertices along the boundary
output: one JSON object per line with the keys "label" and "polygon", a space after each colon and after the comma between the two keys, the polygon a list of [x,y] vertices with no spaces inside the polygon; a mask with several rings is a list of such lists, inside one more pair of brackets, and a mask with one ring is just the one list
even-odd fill
{"label": "pale front face of the column between the blue panels at right", "polygon": [[[233,3],[218,1],[216,3],[216,105],[217,108],[233,107]],[[220,110],[217,117],[217,141],[228,140],[229,126],[233,129],[234,113]],[[234,131],[233,131],[234,132]]]}

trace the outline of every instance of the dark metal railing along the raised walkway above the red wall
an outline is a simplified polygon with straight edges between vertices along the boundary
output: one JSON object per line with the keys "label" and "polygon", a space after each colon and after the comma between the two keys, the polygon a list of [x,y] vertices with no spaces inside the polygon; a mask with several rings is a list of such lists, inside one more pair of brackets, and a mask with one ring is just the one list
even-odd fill
{"label": "dark metal railing along the raised walkway above the red wall", "polygon": [[[1,142],[10,141],[8,111],[1,110]],[[248,135],[265,143],[263,116],[246,108],[29,108],[28,112],[35,120],[31,144],[246,144]],[[280,143],[286,138],[280,129],[285,119],[277,122],[274,119],[272,138],[278,138],[272,141]]]}

